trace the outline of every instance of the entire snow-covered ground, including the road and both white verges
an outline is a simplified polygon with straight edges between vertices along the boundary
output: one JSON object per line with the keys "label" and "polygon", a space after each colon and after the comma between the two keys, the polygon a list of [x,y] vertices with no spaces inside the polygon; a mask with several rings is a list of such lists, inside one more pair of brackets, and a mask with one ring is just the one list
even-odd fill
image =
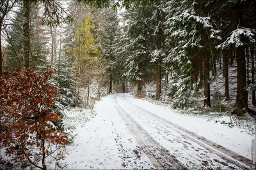
{"label": "entire snow-covered ground, including the road and both white verges", "polygon": [[230,117],[182,114],[131,94],[103,97],[93,110],[66,110],[76,138],[61,168],[251,169],[255,136],[223,124]]}

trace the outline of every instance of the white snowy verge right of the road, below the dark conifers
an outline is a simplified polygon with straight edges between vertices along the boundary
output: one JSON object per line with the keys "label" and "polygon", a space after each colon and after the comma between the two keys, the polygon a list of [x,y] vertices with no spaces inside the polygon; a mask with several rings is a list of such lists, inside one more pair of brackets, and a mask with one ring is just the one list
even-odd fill
{"label": "white snowy verge right of the road, below the dark conifers", "polygon": [[[133,97],[129,96],[129,99],[131,98]],[[166,106],[159,106],[143,99],[131,99],[131,102],[140,105],[140,107],[145,108],[145,110],[157,113],[159,117],[163,117],[174,124],[178,124],[184,129],[195,132],[214,143],[218,143],[218,145],[237,152],[248,159],[252,159],[252,139],[255,139],[255,122],[252,125],[253,121],[251,122],[250,127],[243,124],[240,125],[241,127],[230,127],[228,125],[228,123],[230,123],[230,117],[228,115],[212,117],[213,114],[216,115],[220,113],[212,113],[212,115],[204,116],[180,114],[177,110],[173,111]],[[232,118],[233,124],[236,123],[238,125],[239,122],[236,121]],[[252,131],[254,131],[254,134]]]}

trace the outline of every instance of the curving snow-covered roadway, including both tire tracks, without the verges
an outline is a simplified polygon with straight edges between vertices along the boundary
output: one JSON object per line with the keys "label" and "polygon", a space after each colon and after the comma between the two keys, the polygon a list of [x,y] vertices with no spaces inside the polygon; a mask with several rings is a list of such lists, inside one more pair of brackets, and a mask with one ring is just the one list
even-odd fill
{"label": "curving snow-covered roadway, including both tire tracks, without the verges", "polygon": [[184,129],[129,94],[112,96],[113,106],[156,169],[250,169],[252,160]]}

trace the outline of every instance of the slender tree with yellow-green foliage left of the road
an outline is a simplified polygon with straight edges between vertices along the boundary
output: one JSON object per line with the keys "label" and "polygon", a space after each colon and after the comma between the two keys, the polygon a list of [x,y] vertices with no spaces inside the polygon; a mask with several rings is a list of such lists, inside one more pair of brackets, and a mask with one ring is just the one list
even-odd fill
{"label": "slender tree with yellow-green foliage left of the road", "polygon": [[100,52],[96,48],[93,38],[93,16],[86,14],[78,19],[75,24],[75,47],[74,53],[76,67],[76,76],[79,78],[77,89],[80,87],[88,88],[88,99],[90,93],[90,84],[97,81],[102,76],[102,62]]}

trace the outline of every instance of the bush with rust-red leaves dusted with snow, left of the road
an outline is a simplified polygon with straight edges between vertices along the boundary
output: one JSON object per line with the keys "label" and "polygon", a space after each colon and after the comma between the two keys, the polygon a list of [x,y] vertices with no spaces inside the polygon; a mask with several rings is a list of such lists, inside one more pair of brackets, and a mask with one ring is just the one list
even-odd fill
{"label": "bush with rust-red leaves dusted with snow, left of the road", "polygon": [[40,169],[46,169],[50,146],[67,143],[63,132],[52,128],[52,122],[60,120],[52,110],[57,88],[47,83],[53,72],[17,69],[0,74],[0,147]]}

